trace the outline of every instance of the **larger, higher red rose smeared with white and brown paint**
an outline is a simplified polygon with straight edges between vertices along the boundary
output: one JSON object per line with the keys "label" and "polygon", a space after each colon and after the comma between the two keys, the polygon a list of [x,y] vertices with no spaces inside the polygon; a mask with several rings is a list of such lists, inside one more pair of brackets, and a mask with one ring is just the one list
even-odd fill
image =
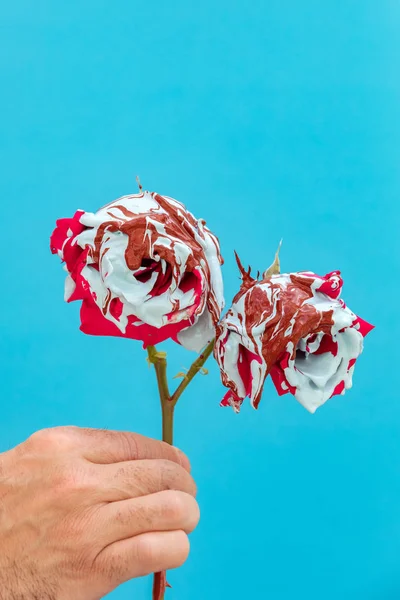
{"label": "larger, higher red rose smeared with white and brown paint", "polygon": [[176,200],[141,192],[60,219],[51,250],[65,261],[65,299],[82,300],[81,330],[167,338],[200,351],[223,308],[218,239]]}

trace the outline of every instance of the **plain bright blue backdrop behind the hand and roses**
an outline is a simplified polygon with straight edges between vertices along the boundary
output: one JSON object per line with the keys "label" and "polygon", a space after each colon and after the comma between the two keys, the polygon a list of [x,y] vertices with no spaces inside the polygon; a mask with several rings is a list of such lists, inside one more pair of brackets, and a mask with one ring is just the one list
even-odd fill
{"label": "plain bright blue backdrop behind the hand and roses", "polygon": [[[309,415],[268,383],[219,408],[215,365],[178,405],[202,520],[169,600],[400,595],[400,7],[395,0],[4,3],[2,449],[56,424],[159,434],[135,342],[85,337],[48,248],[56,218],[144,186],[257,269],[340,268],[377,328],[355,387]],[[191,356],[170,352],[171,374]],[[104,356],[107,355],[107,364]],[[149,598],[150,580],[113,600]]]}

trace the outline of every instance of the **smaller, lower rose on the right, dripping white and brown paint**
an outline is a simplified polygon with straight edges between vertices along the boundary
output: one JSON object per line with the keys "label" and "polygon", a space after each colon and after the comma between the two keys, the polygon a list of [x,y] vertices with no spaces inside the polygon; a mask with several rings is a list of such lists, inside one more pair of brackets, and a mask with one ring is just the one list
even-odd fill
{"label": "smaller, lower rose on the right, dripping white and brown paint", "polygon": [[268,374],[310,412],[352,385],[363,338],[373,328],[339,299],[339,271],[273,275],[242,272],[242,285],[218,327],[215,357],[229,391],[222,405],[257,408]]}

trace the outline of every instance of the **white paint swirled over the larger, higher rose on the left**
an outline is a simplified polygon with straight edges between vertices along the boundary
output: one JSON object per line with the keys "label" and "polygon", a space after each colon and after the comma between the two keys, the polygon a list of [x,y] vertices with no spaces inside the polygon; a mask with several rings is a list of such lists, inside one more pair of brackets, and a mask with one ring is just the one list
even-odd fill
{"label": "white paint swirled over the larger, higher rose on the left", "polygon": [[[220,312],[224,305],[223,283],[221,265],[218,258],[219,244],[216,237],[204,226],[204,221],[199,220],[196,226],[192,226],[187,215],[190,214],[178,201],[164,196],[168,202],[178,210],[181,218],[185,220],[185,226],[191,230],[193,238],[200,244],[204,251],[204,257],[196,271],[200,273],[201,294],[200,304],[194,304],[194,290],[183,292],[180,282],[187,271],[187,262],[191,256],[191,248],[179,237],[167,234],[164,224],[154,217],[158,214],[166,214],[154,195],[149,192],[142,194],[124,196],[104,206],[96,213],[82,212],[80,222],[86,226],[82,233],[77,235],[70,243],[78,244],[82,249],[89,247],[94,251],[95,239],[100,226],[105,222],[116,222],[121,224],[130,220],[124,214],[130,211],[135,215],[146,217],[153,230],[148,229],[146,235],[149,238],[150,248],[157,243],[173,252],[174,262],[171,265],[172,278],[170,285],[161,295],[152,295],[153,287],[157,281],[157,273],[151,273],[145,282],[138,280],[135,275],[140,275],[143,269],[139,268],[136,273],[132,272],[125,260],[129,237],[121,231],[105,231],[101,240],[99,270],[91,267],[88,258],[83,268],[82,276],[87,281],[93,298],[99,308],[103,311],[105,318],[113,322],[122,333],[125,333],[128,325],[128,317],[134,315],[140,322],[147,323],[156,328],[172,322],[180,322],[192,318],[193,325],[178,334],[180,343],[190,350],[200,351],[215,335],[215,327],[211,314],[207,307],[207,299],[210,294],[215,297],[215,305]],[[122,209],[118,208],[122,207]],[[72,232],[71,232],[72,233]],[[68,232],[69,234],[69,232]],[[154,236],[154,239],[153,239]],[[70,238],[68,238],[70,240]],[[62,252],[59,253],[62,258]],[[157,253],[151,254],[151,259],[160,262],[162,273],[166,272],[167,263],[160,259]],[[205,275],[206,270],[210,272],[210,282]],[[65,283],[65,298],[68,300],[75,289],[71,278]],[[121,300],[123,308],[121,316],[116,319],[110,312],[111,300]],[[176,308],[178,307],[178,309]]]}

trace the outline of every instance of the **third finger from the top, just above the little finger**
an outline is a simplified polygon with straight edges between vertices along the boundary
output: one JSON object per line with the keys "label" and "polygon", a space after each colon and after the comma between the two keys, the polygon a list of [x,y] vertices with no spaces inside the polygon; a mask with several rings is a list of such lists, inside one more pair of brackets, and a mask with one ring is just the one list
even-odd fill
{"label": "third finger from the top, just above the little finger", "polygon": [[104,548],[151,531],[179,529],[191,533],[199,519],[199,507],[193,496],[165,490],[133,500],[111,502],[102,507],[91,524],[92,539],[96,545]]}

